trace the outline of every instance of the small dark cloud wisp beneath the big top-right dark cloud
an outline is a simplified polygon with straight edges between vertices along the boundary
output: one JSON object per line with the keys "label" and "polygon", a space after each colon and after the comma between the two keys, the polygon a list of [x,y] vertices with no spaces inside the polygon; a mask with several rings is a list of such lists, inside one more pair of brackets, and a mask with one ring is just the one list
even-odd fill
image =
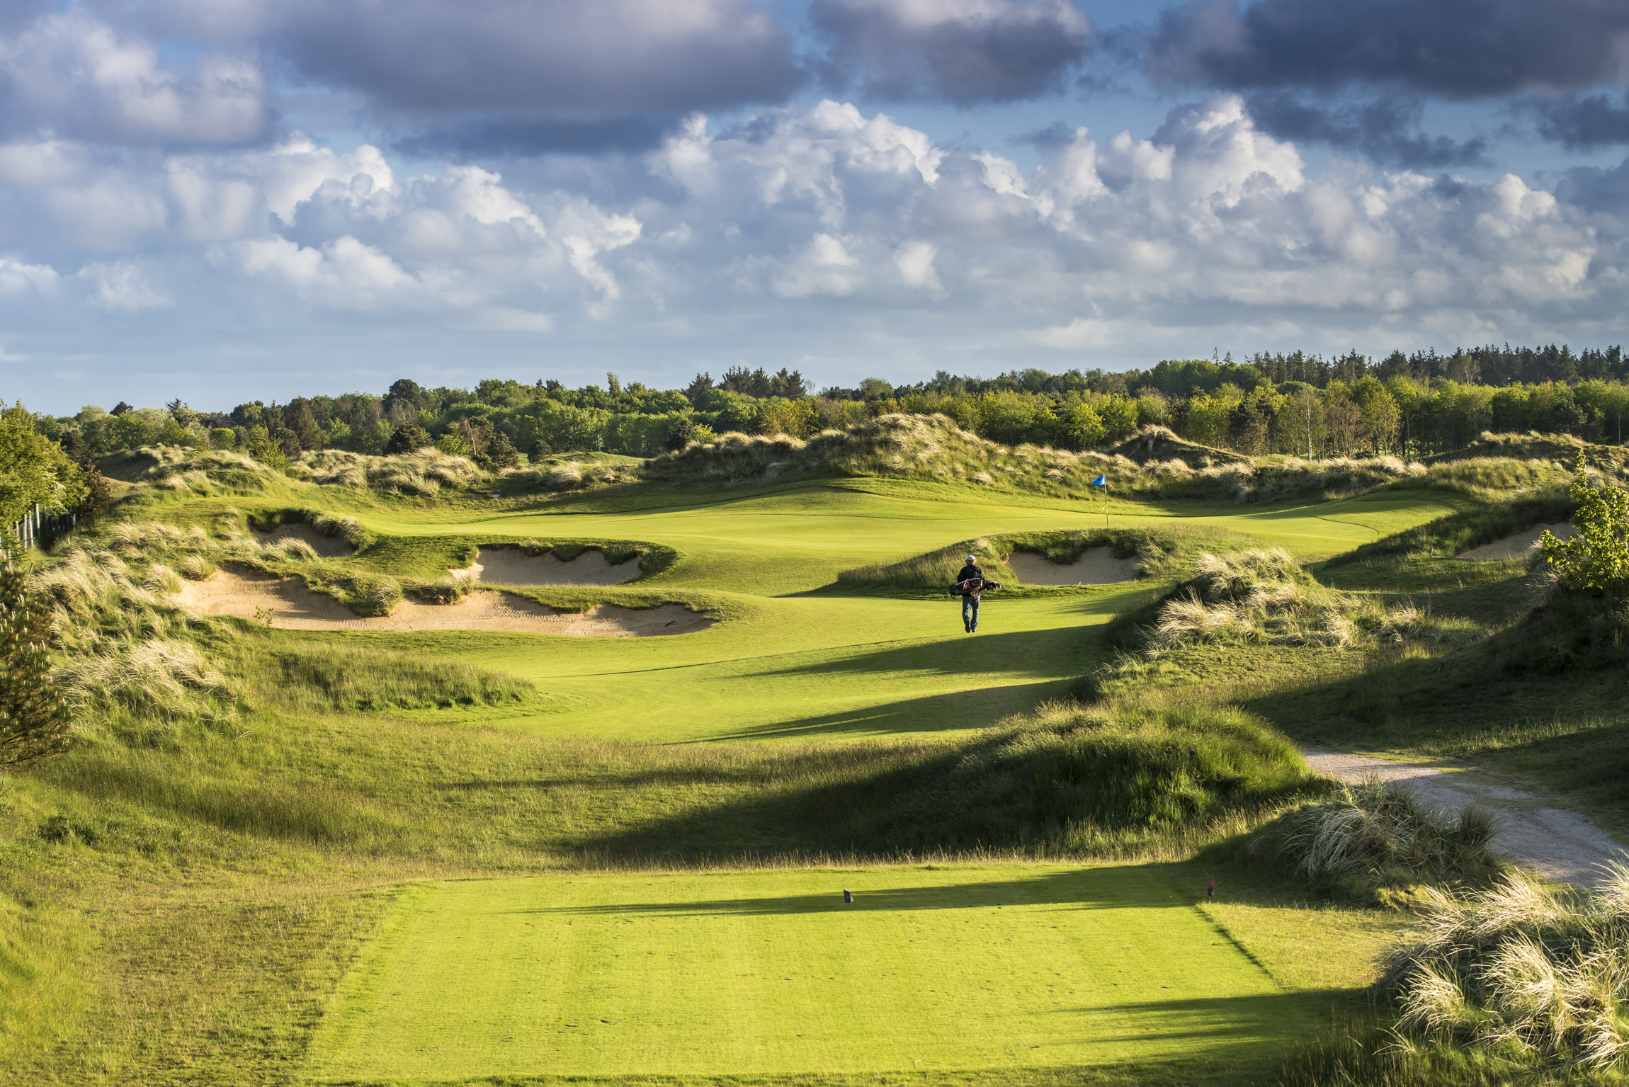
{"label": "small dark cloud wisp beneath the big top-right dark cloud", "polygon": [[1381,166],[1442,169],[1486,163],[1487,140],[1427,135],[1424,106],[1412,98],[1362,103],[1308,103],[1280,91],[1251,95],[1249,112],[1266,132],[1285,140],[1328,143]]}

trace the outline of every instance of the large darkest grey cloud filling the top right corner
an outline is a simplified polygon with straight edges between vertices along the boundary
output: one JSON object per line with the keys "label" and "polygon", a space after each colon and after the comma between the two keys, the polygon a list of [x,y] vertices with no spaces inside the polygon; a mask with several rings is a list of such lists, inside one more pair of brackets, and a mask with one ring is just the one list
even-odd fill
{"label": "large darkest grey cloud filling the top right corner", "polygon": [[1391,85],[1450,98],[1585,88],[1624,75],[1624,0],[1192,0],[1148,37],[1163,83],[1228,90]]}

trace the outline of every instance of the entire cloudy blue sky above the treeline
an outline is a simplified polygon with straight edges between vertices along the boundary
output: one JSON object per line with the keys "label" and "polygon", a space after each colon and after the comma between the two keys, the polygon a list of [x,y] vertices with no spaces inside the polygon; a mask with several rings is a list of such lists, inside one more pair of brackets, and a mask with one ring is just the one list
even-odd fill
{"label": "entire cloudy blue sky above the treeline", "polygon": [[0,398],[1618,344],[1622,0],[0,0]]}

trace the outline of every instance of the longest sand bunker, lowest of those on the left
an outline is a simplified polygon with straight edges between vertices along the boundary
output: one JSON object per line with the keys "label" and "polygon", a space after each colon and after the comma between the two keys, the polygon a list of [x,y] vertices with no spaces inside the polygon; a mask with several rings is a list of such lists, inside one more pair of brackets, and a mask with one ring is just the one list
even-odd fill
{"label": "longest sand bunker, lowest of those on the left", "polygon": [[474,592],[451,605],[404,600],[388,614],[363,618],[314,593],[298,577],[217,570],[202,582],[182,582],[181,603],[204,614],[259,619],[270,613],[283,631],[510,631],[567,637],[655,637],[704,631],[714,619],[683,605],[588,611],[555,611],[525,596]]}

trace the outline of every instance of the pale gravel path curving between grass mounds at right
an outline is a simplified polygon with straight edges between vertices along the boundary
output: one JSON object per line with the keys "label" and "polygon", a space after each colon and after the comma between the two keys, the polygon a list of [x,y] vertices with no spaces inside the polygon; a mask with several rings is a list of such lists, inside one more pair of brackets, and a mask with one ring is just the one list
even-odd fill
{"label": "pale gravel path curving between grass mounds at right", "polygon": [[1473,800],[1492,808],[1499,826],[1494,849],[1552,880],[1592,887],[1601,877],[1603,862],[1629,859],[1611,834],[1582,815],[1546,807],[1530,792],[1481,781],[1473,776],[1474,771],[1326,751],[1306,751],[1306,764],[1346,782],[1365,777],[1401,782],[1420,800],[1445,812],[1458,812]]}

